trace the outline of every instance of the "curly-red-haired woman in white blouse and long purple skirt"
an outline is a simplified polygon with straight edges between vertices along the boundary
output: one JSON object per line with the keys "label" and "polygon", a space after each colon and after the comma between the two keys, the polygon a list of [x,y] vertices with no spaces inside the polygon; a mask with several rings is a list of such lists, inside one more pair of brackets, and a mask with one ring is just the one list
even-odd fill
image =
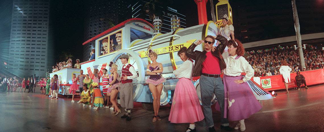
{"label": "curly-red-haired woman in white blouse and long purple skirt", "polygon": [[[229,40],[228,52],[222,54],[226,63],[224,69],[224,118],[239,121],[234,129],[245,131],[244,119],[258,112],[262,107],[247,83],[254,76],[254,70],[243,57],[244,47],[240,41]],[[241,73],[245,72],[243,77]],[[218,107],[217,107],[218,106]],[[219,109],[219,105],[216,105]]]}

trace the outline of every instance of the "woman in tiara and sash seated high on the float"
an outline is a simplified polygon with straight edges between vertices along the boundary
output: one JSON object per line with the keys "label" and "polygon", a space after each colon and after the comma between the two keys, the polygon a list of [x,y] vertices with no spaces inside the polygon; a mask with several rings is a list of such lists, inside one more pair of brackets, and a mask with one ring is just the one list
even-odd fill
{"label": "woman in tiara and sash seated high on the float", "polygon": [[227,40],[230,40],[231,37],[235,40],[234,37],[234,26],[232,25],[231,20],[229,20],[227,15],[223,16],[223,25],[221,26],[221,35],[224,36]]}

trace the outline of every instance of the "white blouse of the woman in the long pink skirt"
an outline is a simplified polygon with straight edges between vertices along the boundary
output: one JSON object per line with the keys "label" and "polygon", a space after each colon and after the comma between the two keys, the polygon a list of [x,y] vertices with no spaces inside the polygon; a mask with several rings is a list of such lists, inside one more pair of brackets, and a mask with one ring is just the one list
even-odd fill
{"label": "white blouse of the woman in the long pink skirt", "polygon": [[173,74],[176,75],[177,78],[184,77],[192,80],[192,71],[193,63],[187,59],[178,67],[178,69],[173,71]]}

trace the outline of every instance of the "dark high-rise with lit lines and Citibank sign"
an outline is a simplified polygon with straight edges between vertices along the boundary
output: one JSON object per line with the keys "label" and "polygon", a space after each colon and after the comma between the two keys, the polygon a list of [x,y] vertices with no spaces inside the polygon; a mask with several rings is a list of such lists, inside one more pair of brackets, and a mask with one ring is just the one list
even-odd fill
{"label": "dark high-rise with lit lines and Citibank sign", "polygon": [[[150,23],[152,23],[152,20],[150,20],[149,15],[145,14],[145,11],[143,10],[144,5],[148,1],[146,0],[138,0],[134,1],[132,4],[132,18],[142,18]],[[171,5],[170,5],[171,6]],[[186,28],[186,16],[181,14],[175,7],[165,6],[161,7],[162,16],[160,19],[162,19],[162,26],[161,26],[161,33],[169,33],[171,32],[171,18],[173,15],[177,15],[180,20],[180,27]]]}

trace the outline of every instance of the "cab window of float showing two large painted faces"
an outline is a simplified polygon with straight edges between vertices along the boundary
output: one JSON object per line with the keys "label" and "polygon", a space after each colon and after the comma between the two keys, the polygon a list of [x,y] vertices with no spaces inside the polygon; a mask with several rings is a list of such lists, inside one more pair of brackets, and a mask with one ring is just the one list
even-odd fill
{"label": "cab window of float showing two large painted faces", "polygon": [[99,56],[118,51],[122,48],[121,30],[98,40]]}

